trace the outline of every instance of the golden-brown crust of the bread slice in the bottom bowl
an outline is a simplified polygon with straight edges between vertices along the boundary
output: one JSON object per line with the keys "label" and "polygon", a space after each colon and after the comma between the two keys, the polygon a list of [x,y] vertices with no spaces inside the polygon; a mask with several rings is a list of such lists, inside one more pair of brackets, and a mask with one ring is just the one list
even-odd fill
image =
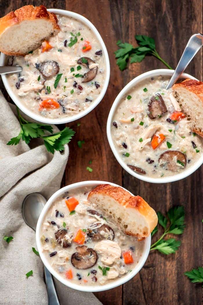
{"label": "golden-brown crust of the bread slice in the bottom bowl", "polygon": [[[156,212],[149,206],[149,204],[140,196],[131,196],[131,194],[118,186],[112,186],[109,184],[101,184],[96,186],[88,195],[88,200],[93,195],[107,195],[116,200],[119,204],[124,206],[126,209],[135,209],[138,211],[143,217],[145,217],[146,221],[149,224],[150,232],[156,227],[158,222],[158,217]],[[149,233],[150,233],[149,232]],[[131,236],[139,236],[139,234],[135,234],[131,231],[124,231],[125,234]],[[147,237],[149,234],[143,237]]]}

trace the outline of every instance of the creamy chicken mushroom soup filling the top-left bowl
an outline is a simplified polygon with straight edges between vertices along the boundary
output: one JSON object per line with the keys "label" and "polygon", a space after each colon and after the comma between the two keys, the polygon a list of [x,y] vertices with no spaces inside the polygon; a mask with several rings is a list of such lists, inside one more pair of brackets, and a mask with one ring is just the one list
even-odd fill
{"label": "creamy chicken mushroom soup filling the top-left bowl", "polygon": [[103,50],[92,30],[71,17],[57,17],[59,33],[25,57],[9,58],[8,64],[23,71],[7,76],[24,106],[51,119],[87,109],[106,77]]}

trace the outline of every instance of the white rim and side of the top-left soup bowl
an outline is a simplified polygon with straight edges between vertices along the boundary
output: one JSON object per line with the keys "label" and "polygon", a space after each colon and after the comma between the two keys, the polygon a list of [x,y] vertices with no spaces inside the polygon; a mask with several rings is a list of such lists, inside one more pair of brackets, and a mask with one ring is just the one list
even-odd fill
{"label": "white rim and side of the top-left soup bowl", "polygon": [[[69,123],[75,120],[80,119],[81,117],[84,117],[86,114],[88,114],[90,111],[92,111],[103,99],[104,94],[107,91],[107,87],[109,84],[109,78],[110,78],[110,63],[109,63],[109,56],[108,56],[108,52],[107,52],[107,48],[103,42],[103,39],[101,38],[98,30],[96,29],[96,27],[85,17],[83,17],[82,15],[79,15],[77,13],[73,13],[70,11],[65,11],[63,9],[48,9],[49,12],[52,12],[54,14],[59,14],[59,15],[64,15],[67,17],[72,17],[75,18],[77,20],[82,21],[82,23],[86,24],[95,34],[96,38],[99,40],[101,47],[102,47],[102,52],[103,55],[105,57],[105,64],[106,64],[106,78],[103,84],[103,88],[102,91],[100,93],[100,95],[92,102],[92,104],[84,111],[82,111],[79,114],[76,114],[72,117],[63,117],[60,119],[49,119],[46,117],[42,117],[36,113],[33,113],[32,111],[30,111],[28,108],[26,108],[26,106],[23,105],[23,103],[21,102],[20,98],[18,96],[16,96],[16,94],[12,91],[11,86],[9,85],[9,82],[6,78],[6,75],[3,74],[2,75],[2,81],[4,83],[4,86],[8,92],[8,94],[10,95],[11,99],[13,100],[13,102],[19,107],[19,109],[21,109],[27,116],[33,118],[34,120],[37,120],[39,122],[42,123],[47,123],[47,124],[64,124],[64,123]],[[0,56],[0,66],[4,66],[5,65],[5,54],[1,53]]]}

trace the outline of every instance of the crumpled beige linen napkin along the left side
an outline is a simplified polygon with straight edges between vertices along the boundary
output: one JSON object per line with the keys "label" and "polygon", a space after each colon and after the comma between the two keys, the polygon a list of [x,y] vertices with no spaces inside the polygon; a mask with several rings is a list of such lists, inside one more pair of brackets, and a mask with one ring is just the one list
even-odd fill
{"label": "crumpled beige linen napkin along the left side", "polygon": [[[49,198],[60,188],[68,145],[63,154],[54,155],[44,145],[33,149],[23,141],[16,146],[6,145],[18,135],[20,126],[1,92],[0,109],[0,304],[48,305],[43,264],[32,251],[32,247],[36,248],[35,233],[23,221],[21,209],[26,195],[40,192]],[[7,244],[5,235],[14,239]],[[33,276],[26,278],[30,270]],[[79,292],[54,281],[61,305],[101,305],[93,293]]]}

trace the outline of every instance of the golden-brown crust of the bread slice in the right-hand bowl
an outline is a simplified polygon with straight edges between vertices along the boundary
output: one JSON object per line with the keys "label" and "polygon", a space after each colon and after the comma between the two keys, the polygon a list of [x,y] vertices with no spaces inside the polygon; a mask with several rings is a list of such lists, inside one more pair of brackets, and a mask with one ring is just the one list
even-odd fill
{"label": "golden-brown crust of the bread slice in the right-hand bowl", "polygon": [[[188,91],[197,95],[199,99],[201,99],[202,106],[203,106],[203,82],[197,81],[195,79],[189,79],[182,81],[181,83],[174,84],[172,89],[175,91],[178,87],[186,88]],[[193,132],[203,137],[203,132],[199,131],[198,129],[193,128]]]}

